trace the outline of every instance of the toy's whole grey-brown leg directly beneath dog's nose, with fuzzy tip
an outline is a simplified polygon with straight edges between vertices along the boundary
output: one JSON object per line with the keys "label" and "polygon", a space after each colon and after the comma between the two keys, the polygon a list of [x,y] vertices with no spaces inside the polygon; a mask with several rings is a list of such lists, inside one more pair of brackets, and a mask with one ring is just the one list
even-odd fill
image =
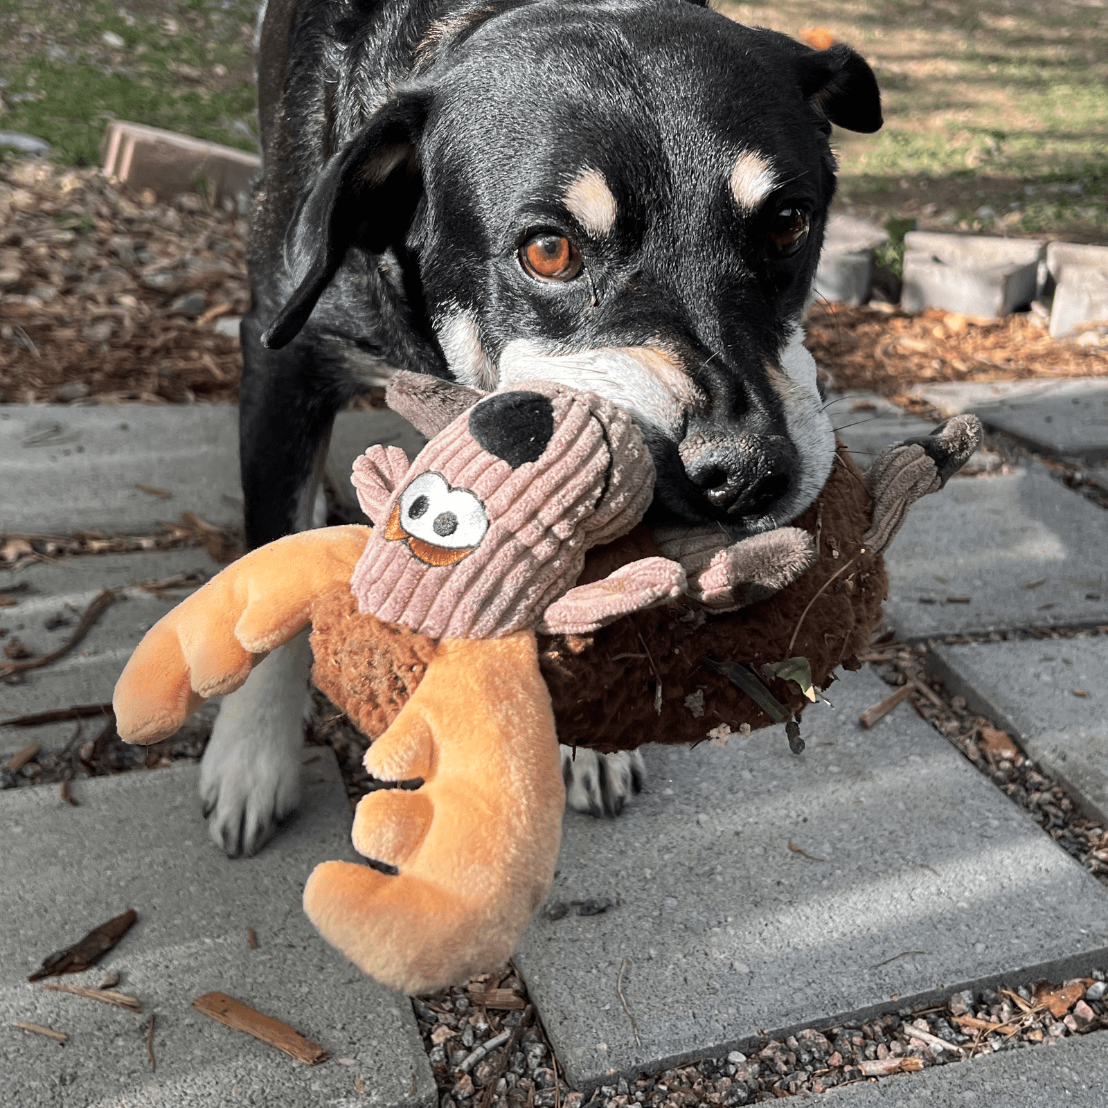
{"label": "toy's whole grey-brown leg directly beneath dog's nose, with fuzzy tip", "polygon": [[817,554],[812,536],[800,527],[778,527],[737,543],[718,530],[659,527],[654,537],[663,554],[685,567],[689,596],[720,612],[779,593],[812,565]]}

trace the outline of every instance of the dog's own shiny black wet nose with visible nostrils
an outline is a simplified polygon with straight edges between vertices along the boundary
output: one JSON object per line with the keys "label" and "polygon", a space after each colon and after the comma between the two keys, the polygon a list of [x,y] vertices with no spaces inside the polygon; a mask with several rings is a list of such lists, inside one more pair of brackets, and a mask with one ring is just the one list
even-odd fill
{"label": "dog's own shiny black wet nose with visible nostrils", "polygon": [[796,448],[779,435],[693,434],[679,452],[689,481],[718,519],[765,515],[788,495],[798,471]]}

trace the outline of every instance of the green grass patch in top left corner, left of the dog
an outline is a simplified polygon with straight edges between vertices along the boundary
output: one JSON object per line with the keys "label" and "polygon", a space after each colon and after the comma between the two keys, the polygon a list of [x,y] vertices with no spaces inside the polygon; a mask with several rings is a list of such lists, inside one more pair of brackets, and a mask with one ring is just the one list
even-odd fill
{"label": "green grass patch in top left corner, left of the dog", "polygon": [[[240,0],[133,7],[130,19],[105,2],[0,0],[0,129],[44,138],[75,165],[99,161],[113,117],[256,150],[252,20]],[[105,44],[105,31],[124,44]]]}

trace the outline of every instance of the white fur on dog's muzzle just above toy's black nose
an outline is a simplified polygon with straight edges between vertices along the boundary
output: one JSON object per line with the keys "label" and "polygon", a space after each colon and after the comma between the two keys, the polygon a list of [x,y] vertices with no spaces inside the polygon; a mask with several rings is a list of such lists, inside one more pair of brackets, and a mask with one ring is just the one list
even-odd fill
{"label": "white fur on dog's muzzle just above toy's black nose", "polygon": [[603,347],[576,353],[547,353],[530,339],[516,339],[500,356],[503,388],[519,381],[554,381],[596,392],[632,418],[670,435],[699,390],[680,362],[656,347]]}

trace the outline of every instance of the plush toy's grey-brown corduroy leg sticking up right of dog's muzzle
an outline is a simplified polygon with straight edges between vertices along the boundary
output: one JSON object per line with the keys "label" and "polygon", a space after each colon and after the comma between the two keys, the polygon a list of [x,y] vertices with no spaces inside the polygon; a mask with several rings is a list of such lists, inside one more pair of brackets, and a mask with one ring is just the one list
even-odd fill
{"label": "plush toy's grey-brown corduroy leg sticking up right of dog's muzzle", "polygon": [[981,420],[954,416],[921,439],[907,439],[878,455],[865,474],[872,507],[866,550],[880,554],[900,531],[909,509],[937,492],[981,445]]}

